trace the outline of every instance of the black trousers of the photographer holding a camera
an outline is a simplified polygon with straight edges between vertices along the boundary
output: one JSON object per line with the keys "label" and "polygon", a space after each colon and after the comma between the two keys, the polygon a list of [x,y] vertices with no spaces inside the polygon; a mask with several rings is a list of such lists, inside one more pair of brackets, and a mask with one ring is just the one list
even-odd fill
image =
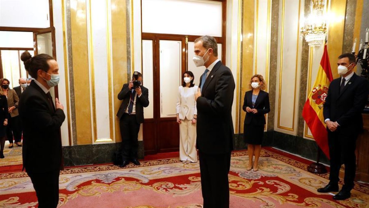
{"label": "black trousers of the photographer holding a camera", "polygon": [[136,115],[123,114],[119,122],[120,134],[122,136],[123,161],[137,159],[138,132],[140,124],[137,123]]}

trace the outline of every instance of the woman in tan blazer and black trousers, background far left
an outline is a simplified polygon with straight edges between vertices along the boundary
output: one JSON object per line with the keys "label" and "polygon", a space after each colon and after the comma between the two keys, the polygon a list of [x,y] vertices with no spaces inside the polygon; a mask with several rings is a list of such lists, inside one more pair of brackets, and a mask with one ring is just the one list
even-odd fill
{"label": "woman in tan blazer and black trousers, background far left", "polygon": [[20,128],[19,121],[19,113],[18,113],[18,103],[19,97],[15,90],[10,89],[10,81],[3,78],[0,79],[1,91],[7,97],[8,101],[8,112],[10,113],[10,117],[7,125],[7,138],[9,141],[9,148],[14,147],[13,140],[17,144],[18,147],[22,147],[22,130]]}

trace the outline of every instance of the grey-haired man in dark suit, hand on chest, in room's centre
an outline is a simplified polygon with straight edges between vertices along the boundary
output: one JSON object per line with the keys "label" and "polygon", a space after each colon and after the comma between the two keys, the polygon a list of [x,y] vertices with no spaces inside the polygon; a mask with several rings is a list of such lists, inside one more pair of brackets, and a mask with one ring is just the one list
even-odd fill
{"label": "grey-haired man in dark suit, hand on chest, in room's centre", "polygon": [[197,148],[204,208],[229,207],[228,172],[233,150],[232,103],[235,89],[231,70],[218,59],[217,41],[202,36],[194,42],[193,61],[205,66],[196,94]]}

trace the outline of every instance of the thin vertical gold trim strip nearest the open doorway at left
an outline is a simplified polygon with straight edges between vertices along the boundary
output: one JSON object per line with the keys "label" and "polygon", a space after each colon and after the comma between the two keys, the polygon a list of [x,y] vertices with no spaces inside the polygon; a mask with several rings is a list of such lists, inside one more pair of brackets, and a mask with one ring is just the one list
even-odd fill
{"label": "thin vertical gold trim strip nearest the open doorway at left", "polygon": [[63,56],[64,56],[64,76],[65,76],[65,96],[67,102],[67,121],[68,121],[68,139],[69,145],[72,145],[72,131],[70,129],[70,109],[69,109],[69,76],[68,76],[68,55],[66,46],[66,27],[65,27],[65,8],[64,0],[62,0],[62,25],[63,25]]}

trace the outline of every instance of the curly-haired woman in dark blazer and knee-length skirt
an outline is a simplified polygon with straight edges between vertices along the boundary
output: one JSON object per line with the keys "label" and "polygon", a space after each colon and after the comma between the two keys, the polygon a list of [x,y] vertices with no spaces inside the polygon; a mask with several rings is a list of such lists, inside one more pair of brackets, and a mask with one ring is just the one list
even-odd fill
{"label": "curly-haired woman in dark blazer and knee-length skirt", "polygon": [[[263,141],[265,115],[269,113],[269,94],[265,92],[265,81],[263,76],[255,74],[251,77],[250,91],[245,93],[242,110],[246,111],[244,122],[244,140],[248,144],[249,165],[247,170],[254,168],[258,171],[258,161]],[[255,162],[252,164],[252,157],[255,153]]]}

